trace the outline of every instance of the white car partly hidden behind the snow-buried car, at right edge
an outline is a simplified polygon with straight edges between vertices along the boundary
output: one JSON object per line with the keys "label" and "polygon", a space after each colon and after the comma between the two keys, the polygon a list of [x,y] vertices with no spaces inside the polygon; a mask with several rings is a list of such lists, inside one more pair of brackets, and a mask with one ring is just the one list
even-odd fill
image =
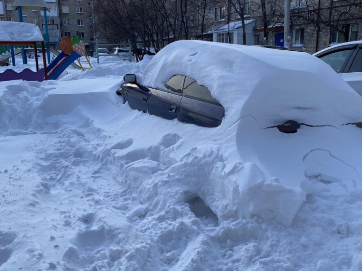
{"label": "white car partly hidden behind the snow-buried car, at right edge", "polygon": [[314,54],[362,96],[362,41],[344,42]]}

